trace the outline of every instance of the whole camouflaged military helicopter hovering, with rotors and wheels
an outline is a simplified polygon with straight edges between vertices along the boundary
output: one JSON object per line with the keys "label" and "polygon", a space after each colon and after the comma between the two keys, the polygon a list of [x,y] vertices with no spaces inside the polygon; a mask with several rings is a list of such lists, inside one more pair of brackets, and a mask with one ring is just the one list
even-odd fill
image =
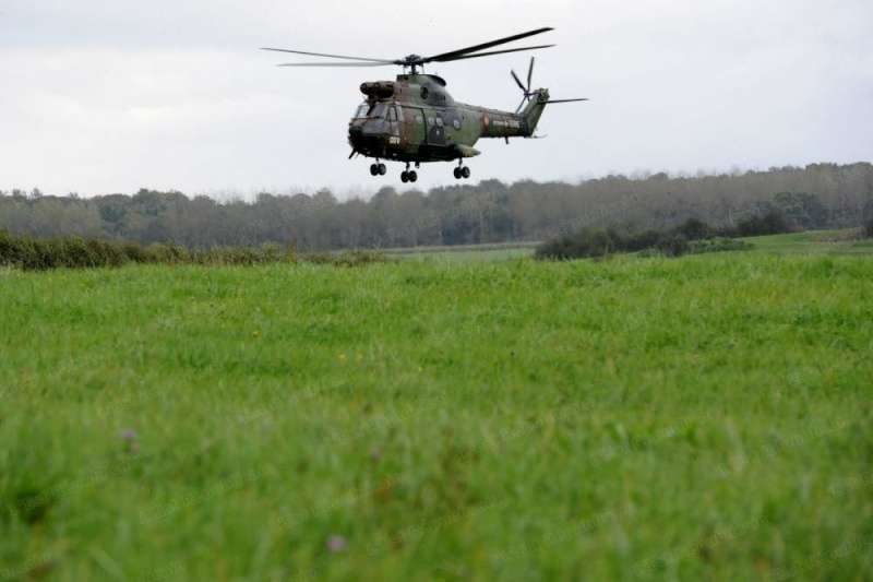
{"label": "whole camouflaged military helicopter hovering, with rotors and wheels", "polygon": [[[348,142],[351,145],[349,159],[355,155],[375,158],[370,166],[372,176],[384,176],[387,168],[383,159],[406,163],[400,173],[403,182],[415,182],[418,174],[409,166],[419,168],[423,162],[454,162],[455,179],[469,178],[470,168],[464,159],[479,155],[474,145],[480,138],[533,138],[546,104],[584,102],[576,99],[549,99],[549,91],[530,91],[534,75],[534,58],[527,70],[527,84],[523,84],[511,71],[512,78],[524,93],[515,112],[489,109],[476,105],[457,103],[445,90],[445,80],[435,74],[426,74],[424,64],[449,62],[462,59],[476,59],[505,52],[549,48],[554,45],[510,48],[482,52],[489,48],[538,35],[554,28],[537,28],[526,33],[507,36],[498,40],[434,55],[421,57],[409,55],[402,59],[371,59],[366,57],[344,57],[324,52],[309,52],[284,48],[263,48],[278,52],[292,52],[312,57],[345,59],[344,62],[296,62],[278,67],[385,67],[400,66],[403,74],[395,81],[368,81],[361,83],[364,102],[358,106],[348,126]],[[409,70],[407,72],[407,69]],[[421,70],[419,72],[419,69]],[[524,109],[523,109],[524,107]]]}

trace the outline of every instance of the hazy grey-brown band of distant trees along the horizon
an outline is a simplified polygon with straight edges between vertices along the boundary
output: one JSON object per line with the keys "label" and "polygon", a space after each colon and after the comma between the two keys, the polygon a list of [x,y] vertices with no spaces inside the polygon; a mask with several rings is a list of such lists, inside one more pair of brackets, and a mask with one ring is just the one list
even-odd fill
{"label": "hazy grey-brown band of distant trees along the horizon", "polygon": [[668,229],[689,218],[729,226],[774,207],[802,228],[859,226],[873,215],[873,165],[610,175],[575,185],[485,180],[428,192],[386,186],[369,199],[345,201],[330,190],[227,202],[148,189],[91,198],[0,190],[0,227],[31,237],[196,249],[274,242],[315,251],[534,242],[593,226]]}

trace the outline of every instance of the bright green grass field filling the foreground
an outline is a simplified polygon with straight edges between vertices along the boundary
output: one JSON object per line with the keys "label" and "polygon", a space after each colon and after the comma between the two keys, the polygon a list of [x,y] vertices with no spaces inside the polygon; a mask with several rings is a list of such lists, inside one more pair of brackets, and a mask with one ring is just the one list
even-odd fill
{"label": "bright green grass field filling the foreground", "polygon": [[3,581],[873,572],[869,254],[0,289]]}

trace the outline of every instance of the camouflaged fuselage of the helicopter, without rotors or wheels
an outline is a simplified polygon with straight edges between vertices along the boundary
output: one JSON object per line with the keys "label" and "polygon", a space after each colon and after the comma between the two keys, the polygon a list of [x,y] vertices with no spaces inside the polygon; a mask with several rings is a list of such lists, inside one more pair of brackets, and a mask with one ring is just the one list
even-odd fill
{"label": "camouflaged fuselage of the helicopter, without rotors or wheels", "polygon": [[538,90],[521,114],[456,103],[445,81],[400,74],[396,81],[361,84],[367,96],[349,122],[355,152],[398,162],[445,162],[479,154],[480,138],[530,136],[548,92]]}

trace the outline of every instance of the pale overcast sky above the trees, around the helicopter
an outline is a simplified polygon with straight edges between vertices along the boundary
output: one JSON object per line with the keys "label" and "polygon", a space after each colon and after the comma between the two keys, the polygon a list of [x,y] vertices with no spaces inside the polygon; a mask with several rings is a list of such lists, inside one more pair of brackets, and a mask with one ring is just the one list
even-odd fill
{"label": "pale overcast sky above the trees, around the helicopter", "polygon": [[394,59],[541,26],[528,43],[558,46],[427,68],[513,110],[510,69],[535,55],[536,86],[591,98],[550,106],[547,139],[479,141],[473,181],[873,157],[870,0],[0,0],[0,189],[404,190],[400,164],[373,178],[346,140],[360,83],[399,68],[277,68],[307,58],[259,47]]}

